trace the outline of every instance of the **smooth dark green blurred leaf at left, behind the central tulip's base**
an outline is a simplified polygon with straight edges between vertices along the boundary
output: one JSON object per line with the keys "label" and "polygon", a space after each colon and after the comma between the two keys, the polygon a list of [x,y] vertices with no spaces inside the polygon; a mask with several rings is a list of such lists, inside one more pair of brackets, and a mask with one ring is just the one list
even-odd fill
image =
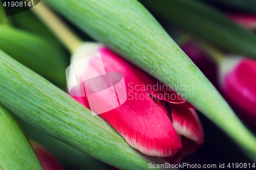
{"label": "smooth dark green blurred leaf at left, behind the central tulip's base", "polygon": [[59,46],[36,34],[0,24],[0,48],[61,89],[66,89],[68,61]]}

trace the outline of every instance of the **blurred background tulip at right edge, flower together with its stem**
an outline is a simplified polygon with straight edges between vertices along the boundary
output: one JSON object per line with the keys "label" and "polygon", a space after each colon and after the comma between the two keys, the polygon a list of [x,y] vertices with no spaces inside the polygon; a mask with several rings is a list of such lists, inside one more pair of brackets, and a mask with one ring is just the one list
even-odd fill
{"label": "blurred background tulip at right edge, flower together with its stem", "polygon": [[218,65],[221,92],[240,118],[255,129],[256,60],[224,55],[206,43],[200,42],[200,44],[202,49],[208,53],[206,56]]}

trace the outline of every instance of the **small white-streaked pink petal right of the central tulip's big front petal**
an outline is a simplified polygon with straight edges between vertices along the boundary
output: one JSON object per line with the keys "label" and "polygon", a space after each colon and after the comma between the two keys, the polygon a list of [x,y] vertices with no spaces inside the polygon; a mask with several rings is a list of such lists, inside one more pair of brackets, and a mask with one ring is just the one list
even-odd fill
{"label": "small white-streaked pink petal right of the central tulip's big front petal", "polygon": [[198,143],[203,142],[203,130],[194,109],[169,104],[173,115],[173,126],[177,134],[183,135]]}

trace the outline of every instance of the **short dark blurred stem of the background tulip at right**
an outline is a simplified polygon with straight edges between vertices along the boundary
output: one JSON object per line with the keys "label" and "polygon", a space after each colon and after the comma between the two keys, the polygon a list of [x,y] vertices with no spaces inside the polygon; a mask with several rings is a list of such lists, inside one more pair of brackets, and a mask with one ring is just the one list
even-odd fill
{"label": "short dark blurred stem of the background tulip at right", "polygon": [[208,44],[207,42],[196,40],[199,47],[207,53],[208,57],[214,61],[216,64],[220,64],[223,60],[225,60],[226,56],[224,53],[222,53],[220,50],[215,48],[214,46]]}

